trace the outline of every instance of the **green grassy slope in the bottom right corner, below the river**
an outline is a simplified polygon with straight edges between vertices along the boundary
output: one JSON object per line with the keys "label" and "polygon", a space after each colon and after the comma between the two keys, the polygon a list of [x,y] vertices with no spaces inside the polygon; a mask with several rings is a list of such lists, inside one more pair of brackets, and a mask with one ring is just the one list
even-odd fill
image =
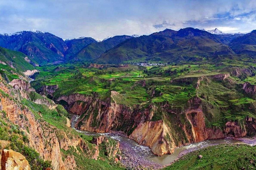
{"label": "green grassy slope in the bottom right corner, below the river", "polygon": [[164,170],[255,169],[255,159],[256,146],[222,144],[191,152]]}

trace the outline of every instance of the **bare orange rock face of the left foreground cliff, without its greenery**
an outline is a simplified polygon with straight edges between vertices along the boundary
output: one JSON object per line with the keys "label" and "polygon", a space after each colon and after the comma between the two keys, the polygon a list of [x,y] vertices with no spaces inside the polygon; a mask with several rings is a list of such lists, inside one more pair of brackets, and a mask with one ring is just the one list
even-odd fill
{"label": "bare orange rock face of the left foreground cliff, without its greenery", "polygon": [[[2,80],[1,76],[0,79]],[[12,85],[17,86],[19,89],[22,88],[23,90],[30,89],[30,84],[22,80],[13,81]],[[17,91],[7,86],[4,80],[0,82],[0,89],[10,97],[21,100],[19,94],[16,93]],[[17,96],[13,96],[15,93]],[[61,156],[60,150],[68,150],[69,146],[73,146],[74,148],[80,147],[87,153],[89,158],[97,159],[99,150],[97,150],[97,148],[94,150],[93,148],[89,148],[88,144],[79,136],[70,138],[66,132],[60,131],[43,120],[37,120],[35,115],[27,107],[20,108],[14,100],[3,96],[2,93],[0,94],[0,99],[0,110],[5,111],[6,118],[9,119],[10,123],[20,127],[28,136],[29,146],[34,148],[44,160],[51,161],[54,170],[76,169],[74,156],[68,156],[65,159]],[[52,103],[54,104],[53,101]],[[23,115],[23,117],[20,115]],[[60,133],[61,138],[59,138]]]}

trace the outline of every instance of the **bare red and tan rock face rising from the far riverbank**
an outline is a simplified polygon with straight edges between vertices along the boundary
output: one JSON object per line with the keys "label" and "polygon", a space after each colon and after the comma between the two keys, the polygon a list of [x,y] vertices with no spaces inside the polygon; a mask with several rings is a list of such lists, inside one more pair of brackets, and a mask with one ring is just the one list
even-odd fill
{"label": "bare red and tan rock face rising from the far riverbank", "polygon": [[[215,78],[224,79],[226,76],[223,74]],[[175,126],[180,127],[184,135],[163,120],[152,122],[151,119],[157,110],[157,107],[153,104],[144,109],[136,107],[132,109],[115,102],[111,103],[111,100],[101,101],[97,98],[86,97],[81,94],[62,96],[58,100],[65,100],[71,105],[77,100],[84,102],[83,107],[77,102],[72,107],[69,107],[73,113],[75,113],[75,108],[78,108],[80,113],[85,111],[76,123],[76,128],[95,132],[122,130],[127,134],[130,131],[132,132],[128,134],[130,138],[140,144],[149,146],[156,155],[173,153],[174,148],[177,146],[189,143],[227,136],[245,136],[247,133],[236,122],[227,122],[223,130],[220,128],[207,128],[201,107],[201,99],[198,97],[188,101],[185,111],[168,110],[168,104],[160,106],[162,111],[168,114],[185,115],[185,123],[179,119],[172,120],[175,121],[173,122]],[[177,138],[177,136],[180,137]]]}

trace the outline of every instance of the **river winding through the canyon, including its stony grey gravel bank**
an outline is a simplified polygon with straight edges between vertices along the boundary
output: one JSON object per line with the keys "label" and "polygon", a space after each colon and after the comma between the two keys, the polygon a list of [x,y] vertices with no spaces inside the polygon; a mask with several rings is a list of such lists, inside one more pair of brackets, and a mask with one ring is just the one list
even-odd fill
{"label": "river winding through the canyon, including its stony grey gravel bank", "polygon": [[[75,122],[78,117],[74,118],[71,122],[72,127],[74,128]],[[122,153],[127,157],[127,159],[131,161],[122,160],[124,164],[130,164],[133,166],[134,163],[138,165],[144,165],[145,167],[152,167],[152,168],[160,168],[163,165],[168,165],[177,158],[185,155],[191,151],[198,150],[200,148],[204,148],[210,145],[216,144],[246,144],[240,140],[234,139],[212,139],[212,140],[205,140],[198,143],[192,143],[187,146],[179,147],[174,150],[172,154],[165,154],[163,156],[156,156],[154,155],[148,146],[139,145],[132,139],[125,137],[122,133],[96,133],[96,132],[88,132],[88,131],[81,131],[77,130],[80,133],[84,133],[87,135],[106,135],[115,140],[118,140],[120,143],[120,149]]]}

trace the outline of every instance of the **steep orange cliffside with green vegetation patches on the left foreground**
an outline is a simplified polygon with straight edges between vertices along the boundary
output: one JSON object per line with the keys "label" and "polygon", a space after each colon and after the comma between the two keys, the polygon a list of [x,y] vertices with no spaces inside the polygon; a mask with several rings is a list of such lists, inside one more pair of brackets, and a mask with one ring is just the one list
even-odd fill
{"label": "steep orange cliffside with green vegetation patches on the left foreground", "polygon": [[[11,87],[0,79],[0,141],[3,148],[24,154],[32,169],[48,165],[53,170],[99,166],[100,162],[93,163],[90,159],[100,157],[101,148],[109,145],[107,139],[97,146],[81,138],[67,126],[68,113],[61,105],[34,92],[24,80],[12,81]],[[108,148],[111,158],[107,159],[113,159],[118,147],[116,143]],[[81,162],[82,157],[88,164]]]}

